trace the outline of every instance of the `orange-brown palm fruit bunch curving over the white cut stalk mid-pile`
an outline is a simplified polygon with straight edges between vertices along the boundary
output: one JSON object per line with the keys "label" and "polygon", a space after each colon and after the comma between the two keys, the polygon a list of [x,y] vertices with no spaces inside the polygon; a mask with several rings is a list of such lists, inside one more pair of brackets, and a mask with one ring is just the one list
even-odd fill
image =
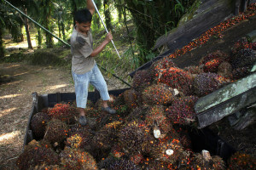
{"label": "orange-brown palm fruit bunch curving over the white cut stalk mid-pile", "polygon": [[165,115],[165,108],[162,105],[154,105],[148,111],[146,116],[146,122],[149,127],[160,128],[160,138],[164,137],[166,133],[172,128],[172,123]]}

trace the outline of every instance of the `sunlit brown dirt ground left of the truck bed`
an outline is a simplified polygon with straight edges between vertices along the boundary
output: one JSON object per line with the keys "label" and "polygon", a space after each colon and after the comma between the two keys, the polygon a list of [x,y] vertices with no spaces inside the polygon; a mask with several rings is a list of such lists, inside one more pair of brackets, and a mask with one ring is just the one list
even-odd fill
{"label": "sunlit brown dirt ground left of the truck bed", "polygon": [[73,92],[70,71],[60,68],[0,64],[0,74],[9,81],[0,85],[0,169],[15,169],[23,148],[26,124],[32,107],[32,93]]}

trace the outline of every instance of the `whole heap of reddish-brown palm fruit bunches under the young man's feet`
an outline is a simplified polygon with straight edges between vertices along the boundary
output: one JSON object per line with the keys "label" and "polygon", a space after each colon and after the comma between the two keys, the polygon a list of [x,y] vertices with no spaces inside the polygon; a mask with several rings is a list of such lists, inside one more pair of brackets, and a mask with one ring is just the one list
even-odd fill
{"label": "whole heap of reddish-brown palm fruit bunches under the young man's feet", "polygon": [[163,58],[137,71],[132,88],[108,103],[88,102],[88,123],[77,122],[75,104],[57,104],[32,117],[35,136],[17,160],[19,169],[237,169],[255,157],[237,152],[226,163],[207,150],[192,150],[188,131],[197,126],[197,99],[246,77],[256,62],[256,43],[241,39],[231,54],[216,51],[200,65],[177,68]]}

